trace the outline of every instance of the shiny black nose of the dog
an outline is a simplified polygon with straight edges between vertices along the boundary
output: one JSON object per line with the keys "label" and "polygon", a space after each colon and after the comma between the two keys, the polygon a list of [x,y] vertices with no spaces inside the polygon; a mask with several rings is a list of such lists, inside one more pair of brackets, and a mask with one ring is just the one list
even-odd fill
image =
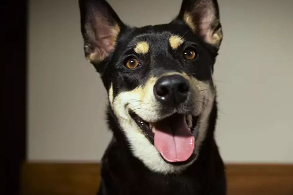
{"label": "shiny black nose of the dog", "polygon": [[163,76],[156,82],[154,93],[156,99],[170,106],[177,106],[187,99],[189,82],[183,76]]}

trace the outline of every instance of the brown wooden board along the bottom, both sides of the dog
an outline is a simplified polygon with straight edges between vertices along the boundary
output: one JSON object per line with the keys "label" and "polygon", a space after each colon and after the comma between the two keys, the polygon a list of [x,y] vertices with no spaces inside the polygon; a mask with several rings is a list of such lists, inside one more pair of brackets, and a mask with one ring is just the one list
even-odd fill
{"label": "brown wooden board along the bottom, both sides of the dog", "polygon": [[[228,195],[293,195],[293,165],[228,164]],[[98,163],[28,163],[22,195],[95,195]]]}

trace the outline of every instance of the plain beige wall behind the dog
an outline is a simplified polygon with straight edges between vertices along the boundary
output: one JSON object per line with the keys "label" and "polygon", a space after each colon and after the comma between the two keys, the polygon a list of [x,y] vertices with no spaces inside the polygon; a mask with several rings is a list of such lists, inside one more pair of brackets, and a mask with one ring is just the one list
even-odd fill
{"label": "plain beige wall behind the dog", "polygon": [[[131,25],[169,22],[181,0],[109,0]],[[219,0],[216,139],[226,162],[293,162],[293,1]],[[99,160],[106,91],[83,56],[77,0],[31,0],[28,159]]]}

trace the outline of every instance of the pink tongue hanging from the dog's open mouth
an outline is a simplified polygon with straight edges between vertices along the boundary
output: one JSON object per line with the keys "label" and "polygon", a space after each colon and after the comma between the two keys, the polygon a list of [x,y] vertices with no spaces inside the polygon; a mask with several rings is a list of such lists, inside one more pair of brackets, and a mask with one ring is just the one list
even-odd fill
{"label": "pink tongue hanging from the dog's open mouth", "polygon": [[185,115],[174,115],[155,125],[155,147],[168,162],[184,162],[194,150],[194,136]]}

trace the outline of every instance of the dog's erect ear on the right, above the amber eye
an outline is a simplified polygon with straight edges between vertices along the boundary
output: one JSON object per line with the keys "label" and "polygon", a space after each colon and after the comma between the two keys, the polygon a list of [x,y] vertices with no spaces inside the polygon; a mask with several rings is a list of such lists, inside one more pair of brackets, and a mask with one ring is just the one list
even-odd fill
{"label": "dog's erect ear on the right, above the amber eye", "polygon": [[219,49],[223,38],[216,0],[183,0],[177,19],[202,39]]}

